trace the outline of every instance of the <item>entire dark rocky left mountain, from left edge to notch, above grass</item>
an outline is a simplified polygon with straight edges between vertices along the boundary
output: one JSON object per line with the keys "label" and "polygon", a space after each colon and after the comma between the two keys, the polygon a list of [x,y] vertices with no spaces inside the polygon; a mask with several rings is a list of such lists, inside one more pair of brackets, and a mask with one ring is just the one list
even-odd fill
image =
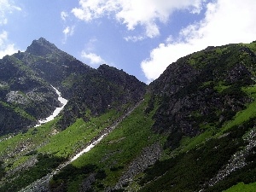
{"label": "entire dark rocky left mountain, from left edge to notch, above grass", "polygon": [[44,38],[34,40],[25,52],[5,56],[0,67],[0,135],[26,131],[59,107],[51,85],[70,100],[59,129],[77,118],[88,120],[110,108],[132,107],[142,98],[146,86],[107,65],[93,69]]}

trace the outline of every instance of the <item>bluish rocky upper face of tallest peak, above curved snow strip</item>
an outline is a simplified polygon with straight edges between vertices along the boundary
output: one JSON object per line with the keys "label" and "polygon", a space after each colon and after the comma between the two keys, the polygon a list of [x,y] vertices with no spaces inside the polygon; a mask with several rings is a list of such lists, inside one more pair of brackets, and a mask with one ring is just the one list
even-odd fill
{"label": "bluish rocky upper face of tallest peak, above curved snow strip", "polygon": [[40,78],[57,87],[67,99],[73,96],[73,84],[84,74],[95,72],[44,38],[34,40],[25,52],[14,56],[38,73]]}

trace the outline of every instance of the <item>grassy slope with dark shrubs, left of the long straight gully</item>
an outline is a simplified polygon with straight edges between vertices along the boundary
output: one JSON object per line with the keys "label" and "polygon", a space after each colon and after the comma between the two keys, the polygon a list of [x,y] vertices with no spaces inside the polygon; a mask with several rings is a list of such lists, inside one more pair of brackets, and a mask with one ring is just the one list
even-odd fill
{"label": "grassy slope with dark shrubs, left of the long straight gully", "polygon": [[75,151],[83,148],[99,131],[112,125],[113,121],[121,114],[111,110],[100,117],[91,118],[89,122],[77,119],[67,130],[57,134],[55,134],[57,132],[55,123],[58,119],[55,119],[9,139],[2,137],[0,155],[4,161],[6,172],[14,171],[27,160],[35,157],[38,159],[38,163],[29,169],[3,177],[0,181],[0,191],[21,189],[28,183],[51,172],[63,160],[67,160]]}

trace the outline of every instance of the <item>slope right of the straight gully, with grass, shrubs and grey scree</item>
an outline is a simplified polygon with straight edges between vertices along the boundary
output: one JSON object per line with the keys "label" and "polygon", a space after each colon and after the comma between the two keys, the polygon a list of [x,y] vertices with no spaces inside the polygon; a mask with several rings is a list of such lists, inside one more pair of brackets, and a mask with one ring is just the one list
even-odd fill
{"label": "slope right of the straight gully, with grass, shrubs and grey scree", "polygon": [[[49,183],[51,191],[114,191],[133,183],[137,174],[153,165],[162,153],[163,137],[151,130],[154,112],[146,115],[147,105],[148,96],[128,117],[119,120],[101,143],[55,175]],[[96,169],[83,172],[88,166]]]}

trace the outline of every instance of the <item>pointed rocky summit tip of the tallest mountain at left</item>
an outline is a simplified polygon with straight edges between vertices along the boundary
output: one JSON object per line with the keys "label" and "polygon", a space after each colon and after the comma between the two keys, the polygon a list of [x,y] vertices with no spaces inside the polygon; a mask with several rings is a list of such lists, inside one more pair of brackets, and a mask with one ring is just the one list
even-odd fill
{"label": "pointed rocky summit tip of the tallest mountain at left", "polygon": [[39,38],[38,40],[32,41],[32,44],[27,47],[26,53],[43,56],[58,50],[59,49],[55,46],[55,44],[49,43],[49,41],[47,41],[45,38]]}

